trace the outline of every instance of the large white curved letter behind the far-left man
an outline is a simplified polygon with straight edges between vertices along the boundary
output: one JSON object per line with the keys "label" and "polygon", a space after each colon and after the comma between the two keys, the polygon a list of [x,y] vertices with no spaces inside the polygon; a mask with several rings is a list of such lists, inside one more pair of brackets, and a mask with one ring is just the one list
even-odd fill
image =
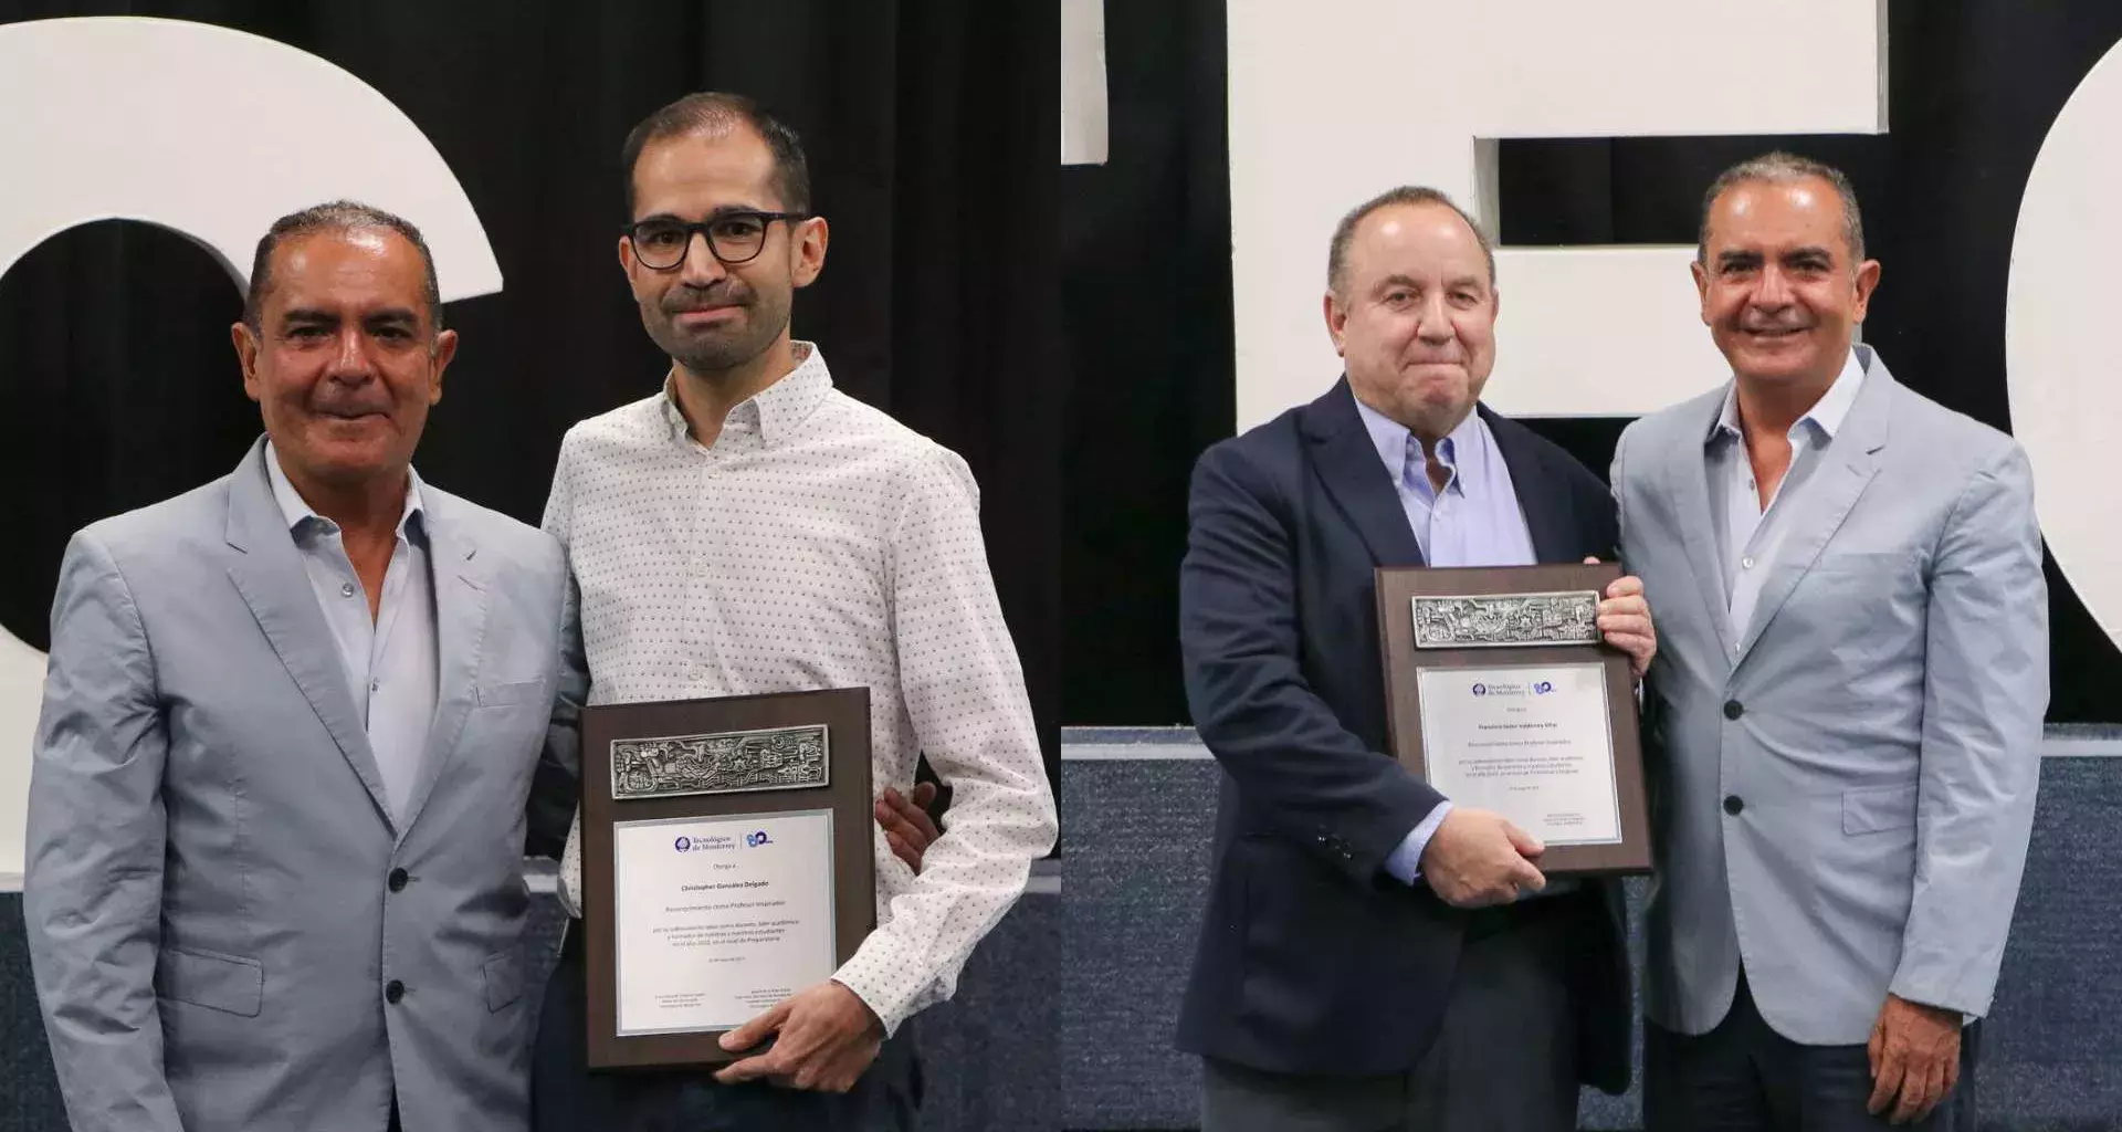
{"label": "large white curved letter behind the far-left man", "polygon": [[[335,144],[286,144],[318,130]],[[420,225],[443,299],[501,289],[471,200],[397,106],[316,55],[225,28],[0,25],[0,272],[68,227],[121,217],[191,236],[242,287],[276,217],[354,198]],[[42,684],[45,656],[0,629],[0,886],[21,873]]]}

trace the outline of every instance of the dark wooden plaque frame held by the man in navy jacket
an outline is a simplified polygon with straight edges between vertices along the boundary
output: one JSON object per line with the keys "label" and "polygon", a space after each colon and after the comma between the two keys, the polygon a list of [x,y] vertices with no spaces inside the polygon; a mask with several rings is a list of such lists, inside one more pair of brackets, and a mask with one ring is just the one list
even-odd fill
{"label": "dark wooden plaque frame held by the man in navy jacket", "polygon": [[1392,754],[1428,782],[1422,750],[1422,669],[1513,669],[1581,665],[1606,669],[1606,720],[1613,726],[1613,777],[1621,803],[1621,841],[1613,845],[1549,845],[1545,875],[1625,875],[1651,871],[1651,820],[1642,790],[1642,733],[1628,654],[1611,644],[1532,644],[1481,648],[1415,648],[1415,597],[1500,597],[1519,593],[1594,590],[1621,578],[1615,563],[1538,567],[1379,567],[1377,627],[1386,663],[1386,722]]}

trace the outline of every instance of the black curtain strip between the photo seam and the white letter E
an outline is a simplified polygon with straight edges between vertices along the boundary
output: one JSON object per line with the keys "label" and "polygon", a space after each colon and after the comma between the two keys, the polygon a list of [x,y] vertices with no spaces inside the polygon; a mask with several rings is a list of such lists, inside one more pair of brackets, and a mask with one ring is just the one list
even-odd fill
{"label": "black curtain strip between the photo seam and the white letter E", "polygon": [[1061,170],[1063,720],[1156,726],[1188,720],[1186,480],[1237,414],[1222,0],[1108,2],[1106,100],[1108,161]]}

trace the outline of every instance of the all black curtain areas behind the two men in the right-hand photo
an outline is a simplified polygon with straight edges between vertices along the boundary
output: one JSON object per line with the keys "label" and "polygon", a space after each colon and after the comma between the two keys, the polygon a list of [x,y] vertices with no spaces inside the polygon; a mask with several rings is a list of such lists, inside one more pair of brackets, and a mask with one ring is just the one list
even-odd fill
{"label": "all black curtain areas behind the two men in the right-hand photo", "polygon": [[[1063,293],[1080,389],[1063,714],[1072,724],[1180,722],[1186,474],[1233,425],[1222,4],[1108,4],[1106,36],[1112,159],[1063,174]],[[1850,174],[1865,242],[1884,263],[1865,340],[1916,391],[2007,429],[2003,304],[2018,202],[2054,115],[2118,40],[2122,4],[2111,0],[1895,0],[1889,134],[1504,142],[1500,236],[1691,244],[1702,191],[1725,166],[1776,147],[1831,161]],[[1761,79],[1761,98],[1774,98],[1774,76]],[[1330,374],[1318,378],[1324,389]],[[1532,425],[1604,476],[1628,421]],[[2052,561],[2048,584],[2050,720],[2122,718],[2111,692],[2122,654]]]}

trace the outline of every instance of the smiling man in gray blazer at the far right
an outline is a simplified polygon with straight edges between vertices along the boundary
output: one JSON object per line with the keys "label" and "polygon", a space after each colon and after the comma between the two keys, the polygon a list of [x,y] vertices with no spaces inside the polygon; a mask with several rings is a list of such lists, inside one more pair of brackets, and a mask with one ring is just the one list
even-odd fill
{"label": "smiling man in gray blazer at the far right", "polygon": [[1725,172],[1693,274],[1734,380],[1613,461],[1659,614],[1645,1124],[1971,1126],[2048,703],[2027,457],[1853,346],[1840,172]]}

